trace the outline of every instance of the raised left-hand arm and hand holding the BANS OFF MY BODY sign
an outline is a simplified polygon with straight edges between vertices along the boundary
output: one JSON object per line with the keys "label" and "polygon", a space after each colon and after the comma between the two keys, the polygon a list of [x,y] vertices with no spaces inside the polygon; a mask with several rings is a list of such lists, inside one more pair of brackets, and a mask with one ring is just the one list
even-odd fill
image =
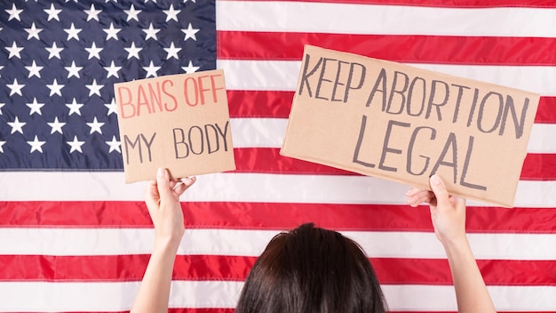
{"label": "raised left-hand arm and hand holding the BANS OFF MY BODY sign", "polygon": [[156,181],[150,181],[145,190],[145,203],[155,225],[155,247],[132,313],[168,312],[172,270],[185,232],[179,196],[194,183],[195,178],[171,180],[167,170],[159,169]]}

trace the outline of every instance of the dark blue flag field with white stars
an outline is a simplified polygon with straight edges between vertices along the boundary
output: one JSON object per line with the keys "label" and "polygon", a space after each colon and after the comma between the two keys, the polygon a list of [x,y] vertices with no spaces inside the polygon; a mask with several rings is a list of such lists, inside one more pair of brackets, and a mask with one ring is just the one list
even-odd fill
{"label": "dark blue flag field with white stars", "polygon": [[[87,160],[102,153],[122,170],[113,84],[216,66],[216,56],[196,52],[204,49],[195,44],[200,26],[211,24],[195,15],[195,5],[173,0],[0,4],[0,91],[10,97],[0,99],[3,150],[23,159],[32,149],[64,168],[88,166]],[[6,28],[8,22],[17,27]],[[18,139],[24,131],[28,137]],[[101,139],[92,142],[90,136]],[[39,142],[44,143],[39,147]],[[72,158],[60,161],[64,150]],[[93,163],[107,168],[104,161]],[[40,160],[29,162],[25,166]]]}

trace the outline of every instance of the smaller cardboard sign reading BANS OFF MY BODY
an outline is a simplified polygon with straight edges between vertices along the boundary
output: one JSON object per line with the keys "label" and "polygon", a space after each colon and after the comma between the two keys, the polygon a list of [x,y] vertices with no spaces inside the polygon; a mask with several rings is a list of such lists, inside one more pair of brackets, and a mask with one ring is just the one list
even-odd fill
{"label": "smaller cardboard sign reading BANS OFF MY BODY", "polygon": [[235,169],[224,72],[114,84],[127,183]]}

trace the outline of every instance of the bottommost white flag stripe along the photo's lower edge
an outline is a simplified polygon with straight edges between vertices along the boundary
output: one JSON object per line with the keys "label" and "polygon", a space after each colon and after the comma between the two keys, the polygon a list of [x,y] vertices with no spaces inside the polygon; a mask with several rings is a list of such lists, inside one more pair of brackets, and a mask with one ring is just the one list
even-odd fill
{"label": "bottommost white flag stripe along the photo's lower edge", "polygon": [[[234,308],[243,282],[172,281],[170,308]],[[451,285],[382,285],[391,310],[455,311]],[[124,311],[131,309],[139,282],[0,282],[0,312]],[[553,311],[555,286],[488,286],[496,309]]]}

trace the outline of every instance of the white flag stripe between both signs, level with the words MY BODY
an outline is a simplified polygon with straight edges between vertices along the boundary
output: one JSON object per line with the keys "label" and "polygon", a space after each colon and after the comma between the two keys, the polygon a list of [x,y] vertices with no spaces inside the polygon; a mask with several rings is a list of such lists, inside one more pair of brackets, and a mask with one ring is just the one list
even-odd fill
{"label": "white flag stripe between both signs, level with the words MY BODY", "polygon": [[[232,118],[234,148],[281,148],[287,118]],[[533,124],[529,153],[556,153],[556,124]]]}

